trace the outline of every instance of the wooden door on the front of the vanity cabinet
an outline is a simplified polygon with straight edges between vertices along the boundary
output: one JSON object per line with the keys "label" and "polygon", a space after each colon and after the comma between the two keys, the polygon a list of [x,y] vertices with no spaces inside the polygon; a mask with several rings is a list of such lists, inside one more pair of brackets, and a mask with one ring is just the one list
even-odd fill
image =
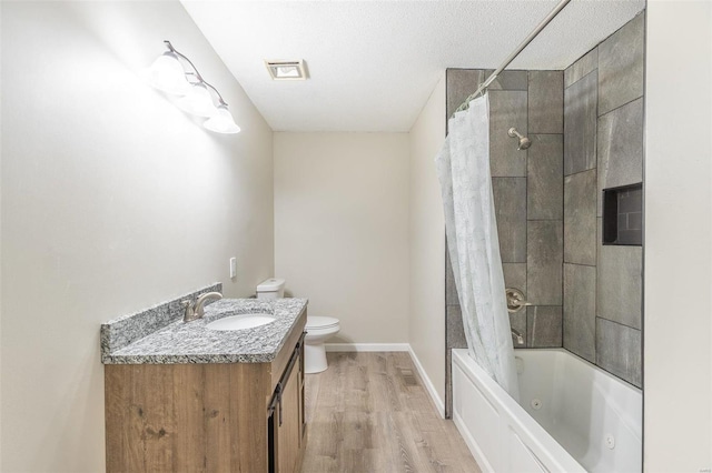
{"label": "wooden door on the front of the vanity cabinet", "polygon": [[[298,352],[295,353],[298,356]],[[290,363],[291,364],[291,363]],[[300,361],[291,365],[281,391],[281,405],[277,430],[277,472],[293,473],[297,471],[299,446],[301,441],[301,383],[299,382]]]}

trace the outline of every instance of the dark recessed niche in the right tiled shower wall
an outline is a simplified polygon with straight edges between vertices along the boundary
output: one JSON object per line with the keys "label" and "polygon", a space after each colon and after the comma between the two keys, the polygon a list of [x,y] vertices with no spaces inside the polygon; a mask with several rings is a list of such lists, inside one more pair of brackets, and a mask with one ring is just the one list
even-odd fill
{"label": "dark recessed niche in the right tiled shower wall", "polygon": [[643,244],[643,184],[603,190],[603,244]]}

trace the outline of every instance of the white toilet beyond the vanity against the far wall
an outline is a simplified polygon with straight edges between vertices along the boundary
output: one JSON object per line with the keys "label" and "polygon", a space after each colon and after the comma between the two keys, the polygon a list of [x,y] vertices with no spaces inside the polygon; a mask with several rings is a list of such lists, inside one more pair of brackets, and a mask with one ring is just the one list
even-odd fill
{"label": "white toilet beyond the vanity against the far wall", "polygon": [[[270,278],[257,285],[257,299],[281,299],[285,296],[285,280]],[[328,368],[324,342],[340,330],[338,319],[308,316],[304,338],[304,372],[320,373]]]}

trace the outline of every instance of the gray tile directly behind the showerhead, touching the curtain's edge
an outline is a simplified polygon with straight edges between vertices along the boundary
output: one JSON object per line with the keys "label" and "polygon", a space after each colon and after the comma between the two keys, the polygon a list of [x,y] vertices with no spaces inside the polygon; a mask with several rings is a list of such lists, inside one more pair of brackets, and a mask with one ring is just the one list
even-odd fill
{"label": "gray tile directly behind the showerhead, touching the curtain's edge", "polygon": [[490,91],[490,169],[493,177],[526,177],[526,151],[507,134],[516,128],[526,135],[525,91]]}

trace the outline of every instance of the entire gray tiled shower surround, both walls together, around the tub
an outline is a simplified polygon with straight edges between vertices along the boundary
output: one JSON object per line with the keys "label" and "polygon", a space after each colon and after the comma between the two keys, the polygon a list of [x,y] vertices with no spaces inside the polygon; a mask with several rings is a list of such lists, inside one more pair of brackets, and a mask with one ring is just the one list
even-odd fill
{"label": "entire gray tiled shower surround, both walls together, around the tub", "polygon": [[[565,71],[504,71],[488,92],[505,284],[534,304],[510,315],[512,328],[525,346],[564,346],[637,386],[642,246],[601,243],[601,195],[642,182],[643,29],[640,14]],[[447,117],[490,73],[447,70]],[[532,139],[527,151],[511,127]],[[451,350],[467,343],[446,261],[449,416]]]}

